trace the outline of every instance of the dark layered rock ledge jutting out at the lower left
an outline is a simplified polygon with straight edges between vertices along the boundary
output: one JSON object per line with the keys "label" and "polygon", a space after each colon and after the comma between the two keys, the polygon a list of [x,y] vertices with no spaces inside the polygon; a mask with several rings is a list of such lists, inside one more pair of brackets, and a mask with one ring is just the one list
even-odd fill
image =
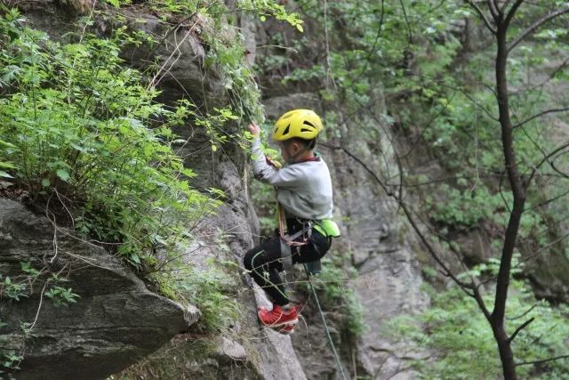
{"label": "dark layered rock ledge jutting out at the lower left", "polygon": [[[41,271],[23,277],[21,263]],[[102,378],[156,351],[199,318],[196,309],[148,291],[107,251],[54,230],[47,218],[0,198],[0,273],[25,286],[20,301],[2,299],[3,348],[24,352],[19,379]],[[58,283],[51,274],[68,279]],[[46,279],[49,279],[46,283]],[[76,303],[57,307],[52,286]],[[20,325],[28,323],[28,336]]]}

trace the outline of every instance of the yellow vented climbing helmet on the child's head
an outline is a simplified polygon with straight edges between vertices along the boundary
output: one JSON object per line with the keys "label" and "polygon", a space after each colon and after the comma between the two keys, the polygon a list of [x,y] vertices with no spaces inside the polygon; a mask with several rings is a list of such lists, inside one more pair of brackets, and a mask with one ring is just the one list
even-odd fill
{"label": "yellow vented climbing helmet on the child's head", "polygon": [[322,120],[310,109],[293,109],[276,120],[273,140],[284,141],[293,137],[313,140],[322,131]]}

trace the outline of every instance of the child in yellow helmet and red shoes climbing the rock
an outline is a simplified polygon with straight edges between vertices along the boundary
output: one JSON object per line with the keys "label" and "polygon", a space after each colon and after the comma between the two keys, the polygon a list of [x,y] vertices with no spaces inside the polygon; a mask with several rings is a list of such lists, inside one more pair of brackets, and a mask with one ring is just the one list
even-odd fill
{"label": "child in yellow helmet and red shoes climbing the rock", "polygon": [[[260,322],[292,334],[298,310],[290,303],[279,272],[290,263],[317,262],[339,236],[332,221],[333,199],[330,172],[314,154],[322,121],[309,109],[293,109],[280,117],[273,129],[286,166],[279,169],[260,149],[260,129],[249,125],[252,140],[252,170],[255,178],[276,188],[280,234],[249,250],[244,266],[273,301],[271,310],[259,308]],[[284,223],[286,234],[284,234]]]}

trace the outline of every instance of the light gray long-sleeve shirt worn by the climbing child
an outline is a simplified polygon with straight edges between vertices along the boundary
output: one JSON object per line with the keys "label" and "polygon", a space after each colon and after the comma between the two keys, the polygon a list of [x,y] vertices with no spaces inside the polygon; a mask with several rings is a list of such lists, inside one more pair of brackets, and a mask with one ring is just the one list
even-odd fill
{"label": "light gray long-sleeve shirt worn by the climbing child", "polygon": [[276,187],[276,199],[286,214],[313,220],[332,218],[332,180],[322,158],[277,170],[267,164],[259,138],[252,141],[252,158],[255,178]]}

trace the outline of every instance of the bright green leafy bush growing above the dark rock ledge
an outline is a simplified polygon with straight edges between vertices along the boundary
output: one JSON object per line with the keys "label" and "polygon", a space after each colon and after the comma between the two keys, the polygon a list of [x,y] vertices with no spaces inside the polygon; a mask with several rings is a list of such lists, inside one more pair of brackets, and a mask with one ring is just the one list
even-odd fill
{"label": "bright green leafy bush growing above the dark rock ledge", "polygon": [[16,11],[0,20],[0,64],[10,73],[2,85],[11,89],[0,99],[10,144],[0,160],[18,163],[10,174],[32,198],[60,202],[76,230],[120,242],[117,252],[142,268],[157,246],[188,239],[188,221],[216,204],[189,186],[196,174],[172,150],[169,125],[189,105],[165,109],[140,73],[124,68],[121,47],[142,36],[116,28],[109,39],[57,44],[21,25]]}

